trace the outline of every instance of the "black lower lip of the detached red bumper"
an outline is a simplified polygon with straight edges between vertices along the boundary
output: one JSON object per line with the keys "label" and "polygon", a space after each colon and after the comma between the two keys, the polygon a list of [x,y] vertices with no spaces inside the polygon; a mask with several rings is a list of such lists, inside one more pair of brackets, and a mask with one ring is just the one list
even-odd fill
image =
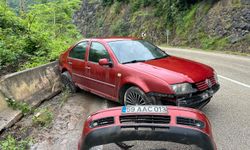
{"label": "black lower lip of the detached red bumper", "polygon": [[[154,130],[138,130],[140,127],[154,128]],[[161,130],[158,131],[158,128]],[[133,140],[169,141],[197,145],[203,150],[216,149],[214,141],[207,134],[191,128],[173,126],[110,126],[99,128],[80,139],[78,146],[79,150],[87,150],[97,145]]]}

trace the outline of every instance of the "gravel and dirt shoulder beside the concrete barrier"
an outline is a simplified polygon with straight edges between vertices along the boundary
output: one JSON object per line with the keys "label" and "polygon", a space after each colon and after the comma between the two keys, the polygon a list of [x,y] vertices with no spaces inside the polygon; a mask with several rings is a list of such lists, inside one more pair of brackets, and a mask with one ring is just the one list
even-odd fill
{"label": "gravel and dirt shoulder beside the concrete barrier", "polygon": [[34,125],[34,114],[30,114],[4,131],[0,140],[12,135],[16,140],[31,138],[32,150],[77,149],[84,120],[89,114],[106,108],[107,102],[84,91],[71,95],[67,100],[64,96],[61,93],[38,108],[47,108],[53,114],[53,121],[47,127]]}

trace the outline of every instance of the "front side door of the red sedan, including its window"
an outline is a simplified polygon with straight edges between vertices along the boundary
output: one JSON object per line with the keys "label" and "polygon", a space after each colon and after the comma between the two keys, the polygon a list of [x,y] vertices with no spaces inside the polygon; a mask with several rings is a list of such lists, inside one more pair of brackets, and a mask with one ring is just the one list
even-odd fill
{"label": "front side door of the red sedan, including its window", "polygon": [[99,59],[107,58],[112,61],[105,46],[99,42],[91,42],[88,63],[88,87],[94,92],[109,99],[115,99],[115,69],[110,66],[101,66]]}

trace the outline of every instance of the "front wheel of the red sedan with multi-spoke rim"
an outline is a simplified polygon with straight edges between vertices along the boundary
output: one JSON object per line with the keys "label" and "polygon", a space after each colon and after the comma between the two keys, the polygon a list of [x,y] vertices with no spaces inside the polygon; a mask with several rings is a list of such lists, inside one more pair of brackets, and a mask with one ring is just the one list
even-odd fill
{"label": "front wheel of the red sedan with multi-spoke rim", "polygon": [[126,90],[123,97],[124,105],[155,105],[153,97],[148,97],[140,88],[132,86]]}

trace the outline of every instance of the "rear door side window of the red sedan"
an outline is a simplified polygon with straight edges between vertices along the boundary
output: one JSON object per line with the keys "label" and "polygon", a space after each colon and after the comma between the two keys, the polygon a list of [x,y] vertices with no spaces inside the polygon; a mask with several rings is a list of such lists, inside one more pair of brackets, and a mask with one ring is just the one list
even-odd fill
{"label": "rear door side window of the red sedan", "polygon": [[69,57],[84,60],[87,45],[88,42],[79,43],[69,52]]}

